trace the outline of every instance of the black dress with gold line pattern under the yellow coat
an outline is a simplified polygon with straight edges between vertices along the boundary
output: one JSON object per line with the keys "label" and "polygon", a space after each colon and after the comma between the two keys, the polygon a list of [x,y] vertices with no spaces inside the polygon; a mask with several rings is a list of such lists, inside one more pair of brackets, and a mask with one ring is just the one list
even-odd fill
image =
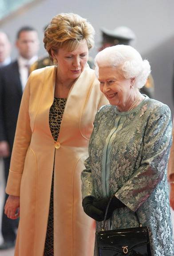
{"label": "black dress with gold line pattern under the yellow coat", "polygon": [[[62,122],[62,116],[65,108],[67,99],[54,98],[54,102],[50,108],[49,115],[49,125],[52,136],[55,141],[59,136],[60,124]],[[45,240],[44,256],[54,255],[54,201],[53,201],[53,191],[54,191],[54,168],[52,174],[51,183],[51,196],[50,196],[50,209],[47,223],[47,234]]]}

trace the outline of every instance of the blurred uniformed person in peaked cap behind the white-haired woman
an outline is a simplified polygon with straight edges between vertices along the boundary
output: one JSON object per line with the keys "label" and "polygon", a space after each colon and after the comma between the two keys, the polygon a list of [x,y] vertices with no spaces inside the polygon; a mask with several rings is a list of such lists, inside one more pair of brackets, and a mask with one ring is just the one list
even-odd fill
{"label": "blurred uniformed person in peaked cap behind the white-haired woman", "polygon": [[[117,44],[131,45],[136,38],[134,32],[125,26],[117,27],[113,30],[101,28],[101,32],[102,42],[99,51]],[[140,91],[150,98],[154,97],[154,80],[151,75],[148,77],[146,84]]]}

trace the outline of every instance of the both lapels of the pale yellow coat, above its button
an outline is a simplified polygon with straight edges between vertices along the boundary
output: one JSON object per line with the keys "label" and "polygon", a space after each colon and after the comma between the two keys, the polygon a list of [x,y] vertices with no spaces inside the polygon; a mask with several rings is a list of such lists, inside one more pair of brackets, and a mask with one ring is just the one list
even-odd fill
{"label": "both lapels of the pale yellow coat, above its button", "polygon": [[[42,95],[42,101],[40,109],[44,112],[46,116],[46,129],[49,136],[52,137],[50,127],[49,127],[49,112],[51,105],[54,101],[54,91],[55,91],[55,78],[56,78],[56,67],[47,67],[45,68],[45,77],[44,77],[44,93]],[[92,81],[95,79],[94,72],[87,67],[84,69],[79,78],[72,85],[71,90],[67,97],[67,102],[65,105],[63,118],[60,126],[58,140],[61,142],[66,139],[64,136],[68,133],[69,122],[71,121],[80,121],[81,113],[85,105],[85,100],[92,85]],[[72,120],[73,117],[73,120]],[[53,139],[53,137],[52,137]],[[54,141],[54,139],[53,139]]]}

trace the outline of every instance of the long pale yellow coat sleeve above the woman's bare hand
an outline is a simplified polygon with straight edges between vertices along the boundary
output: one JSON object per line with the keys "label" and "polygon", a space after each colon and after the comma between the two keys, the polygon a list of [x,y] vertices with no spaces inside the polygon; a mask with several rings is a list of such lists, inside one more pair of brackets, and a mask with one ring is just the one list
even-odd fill
{"label": "long pale yellow coat sleeve above the woman's bare hand", "polygon": [[30,79],[31,76],[29,77],[28,83],[24,89],[20,104],[6,187],[6,193],[13,196],[20,196],[20,182],[24,169],[25,156],[32,136],[29,117]]}

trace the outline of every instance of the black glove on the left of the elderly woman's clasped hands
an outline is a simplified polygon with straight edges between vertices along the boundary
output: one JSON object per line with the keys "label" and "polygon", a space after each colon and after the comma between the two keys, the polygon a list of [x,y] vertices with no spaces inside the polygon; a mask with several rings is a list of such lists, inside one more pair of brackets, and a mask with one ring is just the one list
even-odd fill
{"label": "black glove on the left of the elderly woman's clasped hands", "polygon": [[104,213],[93,205],[94,199],[93,196],[86,196],[82,201],[83,210],[92,219],[102,221],[104,220]]}

